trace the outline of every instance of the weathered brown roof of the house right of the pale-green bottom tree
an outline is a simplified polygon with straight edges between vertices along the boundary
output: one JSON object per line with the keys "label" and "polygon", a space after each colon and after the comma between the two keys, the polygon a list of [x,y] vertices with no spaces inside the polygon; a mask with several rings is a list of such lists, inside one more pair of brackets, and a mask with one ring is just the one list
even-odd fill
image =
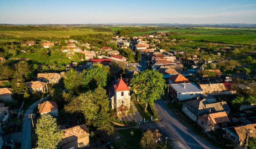
{"label": "weathered brown roof of the house right of the pale-green bottom tree", "polygon": [[85,124],[63,130],[62,145],[87,137],[90,132]]}

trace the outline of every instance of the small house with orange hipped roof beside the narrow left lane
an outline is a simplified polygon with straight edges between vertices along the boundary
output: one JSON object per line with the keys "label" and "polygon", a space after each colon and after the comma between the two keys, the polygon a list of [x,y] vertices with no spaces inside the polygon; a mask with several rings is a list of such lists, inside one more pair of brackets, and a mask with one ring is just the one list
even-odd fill
{"label": "small house with orange hipped roof beside the narrow left lane", "polygon": [[50,114],[51,116],[58,115],[58,105],[55,101],[44,101],[43,103],[38,103],[38,110],[41,115]]}

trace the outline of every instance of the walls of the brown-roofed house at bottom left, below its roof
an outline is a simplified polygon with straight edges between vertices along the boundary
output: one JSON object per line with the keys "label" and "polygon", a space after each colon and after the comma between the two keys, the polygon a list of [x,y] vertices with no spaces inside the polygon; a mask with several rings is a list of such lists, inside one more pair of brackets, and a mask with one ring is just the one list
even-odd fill
{"label": "walls of the brown-roofed house at bottom left, below its roof", "polygon": [[90,146],[89,136],[87,136],[87,137],[80,138],[78,140],[75,140],[75,141],[72,141],[72,142],[62,145],[62,149],[69,149],[72,147],[75,147],[76,149],[78,149],[81,147],[85,148],[85,147],[89,147],[89,146]]}

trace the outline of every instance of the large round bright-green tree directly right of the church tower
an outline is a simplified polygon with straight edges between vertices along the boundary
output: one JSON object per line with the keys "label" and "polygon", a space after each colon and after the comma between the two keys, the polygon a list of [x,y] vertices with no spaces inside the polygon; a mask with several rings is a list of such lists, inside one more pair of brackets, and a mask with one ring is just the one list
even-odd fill
{"label": "large round bright-green tree directly right of the church tower", "polygon": [[164,94],[166,86],[163,76],[158,71],[145,70],[134,75],[131,79],[131,90],[137,94],[139,101],[145,103],[145,112],[148,103],[152,105],[154,100]]}

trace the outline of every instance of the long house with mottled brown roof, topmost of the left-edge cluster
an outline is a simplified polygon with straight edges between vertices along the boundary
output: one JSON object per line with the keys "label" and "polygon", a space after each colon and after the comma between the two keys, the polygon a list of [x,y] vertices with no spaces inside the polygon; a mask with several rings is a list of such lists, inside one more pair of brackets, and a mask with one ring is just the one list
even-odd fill
{"label": "long house with mottled brown roof, topmost of the left-edge cluster", "polygon": [[38,73],[37,81],[47,82],[47,83],[59,83],[60,74],[59,73]]}

